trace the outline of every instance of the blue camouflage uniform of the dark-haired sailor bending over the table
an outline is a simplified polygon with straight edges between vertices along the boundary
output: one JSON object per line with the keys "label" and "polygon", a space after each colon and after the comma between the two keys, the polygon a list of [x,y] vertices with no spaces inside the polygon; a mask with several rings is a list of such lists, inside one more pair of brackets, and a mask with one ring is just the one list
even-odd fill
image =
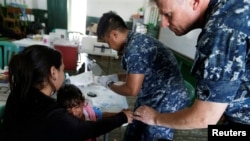
{"label": "blue camouflage uniform of the dark-haired sailor bending over the table", "polygon": [[[141,105],[148,105],[158,112],[171,113],[183,109],[190,103],[174,55],[158,40],[130,31],[121,65],[127,74],[144,74],[135,109]],[[137,136],[137,140],[144,141],[172,140],[173,130],[134,121],[127,127],[126,136],[126,140],[135,139],[129,136]]]}

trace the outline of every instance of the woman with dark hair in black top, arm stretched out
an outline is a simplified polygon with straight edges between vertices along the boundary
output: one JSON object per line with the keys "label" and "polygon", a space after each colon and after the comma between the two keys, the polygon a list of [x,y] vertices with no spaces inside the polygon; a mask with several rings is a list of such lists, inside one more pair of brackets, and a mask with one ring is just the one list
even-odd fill
{"label": "woman with dark hair in black top, arm stretched out", "polygon": [[75,118],[51,97],[63,82],[62,55],[53,48],[33,45],[12,57],[11,93],[3,120],[5,141],[83,141],[131,122],[131,111],[95,122]]}

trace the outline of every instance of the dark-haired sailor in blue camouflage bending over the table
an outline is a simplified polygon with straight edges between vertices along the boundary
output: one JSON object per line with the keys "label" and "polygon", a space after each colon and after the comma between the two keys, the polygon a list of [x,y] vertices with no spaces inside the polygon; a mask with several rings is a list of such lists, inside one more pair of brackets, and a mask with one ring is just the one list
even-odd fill
{"label": "dark-haired sailor in blue camouflage bending over the table", "polygon": [[[112,49],[123,52],[121,66],[126,75],[119,78],[124,83],[109,83],[108,87],[124,96],[137,96],[134,109],[148,105],[160,113],[171,113],[190,104],[176,58],[157,39],[128,30],[123,19],[112,11],[101,17],[97,36]],[[173,140],[173,136],[171,128],[134,121],[128,125],[124,140]]]}

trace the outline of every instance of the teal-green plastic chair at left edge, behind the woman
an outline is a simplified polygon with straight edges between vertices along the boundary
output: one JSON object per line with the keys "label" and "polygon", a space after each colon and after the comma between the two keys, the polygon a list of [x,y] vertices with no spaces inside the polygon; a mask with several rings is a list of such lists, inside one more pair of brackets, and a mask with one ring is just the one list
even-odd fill
{"label": "teal-green plastic chair at left edge, behind the woman", "polygon": [[8,66],[11,57],[18,53],[18,47],[11,42],[0,41],[0,53],[0,68],[3,69],[4,66]]}

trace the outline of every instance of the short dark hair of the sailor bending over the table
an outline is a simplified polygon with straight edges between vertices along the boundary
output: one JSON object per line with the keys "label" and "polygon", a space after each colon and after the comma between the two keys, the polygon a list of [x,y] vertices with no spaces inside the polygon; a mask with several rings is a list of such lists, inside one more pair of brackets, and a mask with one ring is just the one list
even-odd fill
{"label": "short dark hair of the sailor bending over the table", "polygon": [[102,15],[97,26],[97,39],[102,41],[105,34],[113,29],[124,30],[128,29],[124,20],[113,11],[106,12]]}

